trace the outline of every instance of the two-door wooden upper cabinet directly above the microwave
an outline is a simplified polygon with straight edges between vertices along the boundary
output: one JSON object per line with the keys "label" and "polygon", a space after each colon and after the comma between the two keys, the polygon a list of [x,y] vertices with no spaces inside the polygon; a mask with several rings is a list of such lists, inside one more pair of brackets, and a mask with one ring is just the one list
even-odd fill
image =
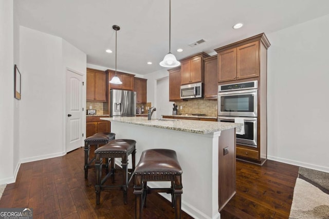
{"label": "two-door wooden upper cabinet directly above the microwave", "polygon": [[180,60],[181,85],[202,82],[203,58],[208,56],[207,53],[202,52]]}

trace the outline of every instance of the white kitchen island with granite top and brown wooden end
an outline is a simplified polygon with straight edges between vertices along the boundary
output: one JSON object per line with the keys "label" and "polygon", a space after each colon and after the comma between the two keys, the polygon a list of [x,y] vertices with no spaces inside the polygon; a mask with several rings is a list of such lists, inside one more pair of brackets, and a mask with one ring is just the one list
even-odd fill
{"label": "white kitchen island with granite top and brown wooden end", "polygon": [[[143,150],[175,150],[183,171],[181,209],[194,218],[220,218],[219,211],[235,194],[235,128],[240,124],[145,117],[101,119],[111,121],[116,139],[137,142],[136,164]],[[148,186],[170,184],[148,182]],[[171,201],[169,194],[161,195]]]}

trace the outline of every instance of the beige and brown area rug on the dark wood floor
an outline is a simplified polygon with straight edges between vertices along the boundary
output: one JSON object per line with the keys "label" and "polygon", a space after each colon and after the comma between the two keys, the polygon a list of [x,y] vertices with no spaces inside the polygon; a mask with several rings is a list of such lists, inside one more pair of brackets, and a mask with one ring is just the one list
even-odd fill
{"label": "beige and brown area rug on the dark wood floor", "polygon": [[300,167],[290,219],[329,219],[329,173]]}

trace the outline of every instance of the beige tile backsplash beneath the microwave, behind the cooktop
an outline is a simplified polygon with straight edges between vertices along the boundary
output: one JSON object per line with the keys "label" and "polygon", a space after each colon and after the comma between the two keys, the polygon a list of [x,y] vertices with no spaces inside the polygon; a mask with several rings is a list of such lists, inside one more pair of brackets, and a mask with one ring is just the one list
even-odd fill
{"label": "beige tile backsplash beneath the microwave, behind the cooktop", "polygon": [[188,101],[175,102],[175,104],[178,105],[177,114],[200,113],[207,116],[217,116],[217,99],[189,99]]}

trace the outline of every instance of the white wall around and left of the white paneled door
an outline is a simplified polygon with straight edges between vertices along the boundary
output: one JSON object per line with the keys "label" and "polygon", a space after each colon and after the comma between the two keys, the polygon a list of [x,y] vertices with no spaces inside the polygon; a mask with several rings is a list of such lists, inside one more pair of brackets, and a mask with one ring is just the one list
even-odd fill
{"label": "white wall around and left of the white paneled door", "polygon": [[60,37],[20,30],[20,153],[25,163],[65,154],[66,68],[85,78],[86,54]]}

